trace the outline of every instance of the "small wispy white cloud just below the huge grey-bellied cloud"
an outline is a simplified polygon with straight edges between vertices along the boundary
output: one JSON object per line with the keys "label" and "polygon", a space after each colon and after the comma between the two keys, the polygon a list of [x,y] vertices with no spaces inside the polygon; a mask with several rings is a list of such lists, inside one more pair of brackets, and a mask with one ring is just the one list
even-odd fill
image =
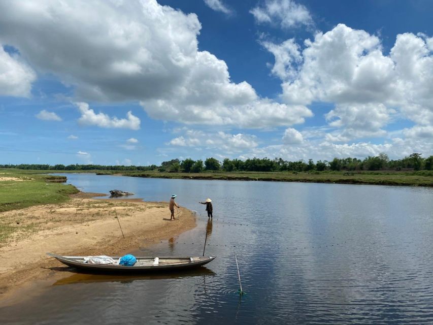
{"label": "small wispy white cloud just below the huge grey-bellied cloud", "polygon": [[78,122],[83,125],[96,125],[105,128],[130,128],[138,130],[140,128],[140,119],[132,115],[131,111],[126,113],[127,118],[110,117],[104,113],[95,113],[89,108],[87,103],[75,103],[81,112]]}

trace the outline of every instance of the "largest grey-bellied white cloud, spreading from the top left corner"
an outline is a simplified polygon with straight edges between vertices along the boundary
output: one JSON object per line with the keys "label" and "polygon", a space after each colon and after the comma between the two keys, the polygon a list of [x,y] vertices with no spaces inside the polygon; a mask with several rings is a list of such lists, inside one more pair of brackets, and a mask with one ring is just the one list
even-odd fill
{"label": "largest grey-bellied white cloud, spreading from the top left corner", "polygon": [[198,50],[200,29],[195,14],[155,0],[0,2],[0,38],[77,101],[139,101],[151,118],[190,124],[289,126],[312,115],[232,82],[223,60]]}

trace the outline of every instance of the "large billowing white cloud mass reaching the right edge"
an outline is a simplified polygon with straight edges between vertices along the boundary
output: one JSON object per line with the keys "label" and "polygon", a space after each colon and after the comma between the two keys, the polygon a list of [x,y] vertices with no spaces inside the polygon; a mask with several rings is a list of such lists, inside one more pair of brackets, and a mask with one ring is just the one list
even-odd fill
{"label": "large billowing white cloud mass reaching the right edge", "polygon": [[272,73],[282,80],[283,103],[335,105],[324,112],[339,130],[329,141],[383,137],[396,116],[433,125],[430,43],[423,34],[401,34],[386,55],[377,36],[344,24],[318,32],[303,49],[293,39],[261,42],[275,56]]}

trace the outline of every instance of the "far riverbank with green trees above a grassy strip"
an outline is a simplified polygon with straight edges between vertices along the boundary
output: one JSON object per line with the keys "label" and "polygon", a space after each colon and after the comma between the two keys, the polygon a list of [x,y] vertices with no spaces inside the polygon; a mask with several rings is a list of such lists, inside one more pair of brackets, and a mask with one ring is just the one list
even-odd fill
{"label": "far riverbank with green trees above a grassy strip", "polygon": [[413,153],[403,159],[391,160],[386,154],[379,154],[363,160],[349,157],[334,158],[332,161],[318,160],[316,163],[312,159],[305,162],[282,158],[226,158],[220,163],[215,158],[205,161],[187,158],[182,161],[163,161],[160,166],[0,165],[0,168],[16,168],[22,172],[36,169],[40,173],[93,172],[98,175],[123,174],[153,178],[433,186],[433,156],[422,158],[421,155]]}

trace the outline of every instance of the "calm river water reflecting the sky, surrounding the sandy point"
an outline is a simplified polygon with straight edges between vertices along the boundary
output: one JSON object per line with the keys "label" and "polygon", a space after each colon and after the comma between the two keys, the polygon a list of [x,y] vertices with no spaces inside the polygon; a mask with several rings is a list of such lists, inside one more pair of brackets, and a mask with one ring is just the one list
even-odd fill
{"label": "calm river water reflecting the sky, surrounding the sandy point", "polygon": [[201,255],[208,232],[218,257],[176,274],[75,274],[1,308],[2,324],[433,323],[431,188],[66,176],[145,201],[176,193],[197,211],[196,229],[132,253]]}

